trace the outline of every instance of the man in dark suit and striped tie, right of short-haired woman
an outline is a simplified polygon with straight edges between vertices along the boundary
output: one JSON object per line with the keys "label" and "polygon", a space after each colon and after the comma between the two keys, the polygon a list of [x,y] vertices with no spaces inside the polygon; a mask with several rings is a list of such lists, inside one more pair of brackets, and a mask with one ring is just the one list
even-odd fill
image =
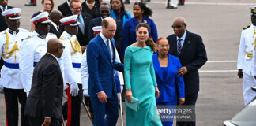
{"label": "man in dark suit and striped tie, right of short-haired woman", "polygon": [[169,53],[179,57],[182,68],[178,70],[178,76],[183,76],[185,82],[185,103],[193,112],[188,122],[177,122],[179,126],[195,125],[194,105],[198,98],[199,72],[198,69],[207,61],[205,46],[201,36],[186,31],[186,21],[183,17],[175,18],[172,28],[175,34],[168,36],[170,45]]}

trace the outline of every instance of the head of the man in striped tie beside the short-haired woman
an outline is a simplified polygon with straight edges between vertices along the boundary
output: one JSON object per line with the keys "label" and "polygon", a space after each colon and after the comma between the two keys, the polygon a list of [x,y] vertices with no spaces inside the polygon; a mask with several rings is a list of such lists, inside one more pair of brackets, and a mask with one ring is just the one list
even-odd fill
{"label": "head of the man in striped tie beside the short-haired woman", "polygon": [[182,37],[186,31],[186,20],[184,17],[176,17],[172,24],[173,31],[178,37]]}

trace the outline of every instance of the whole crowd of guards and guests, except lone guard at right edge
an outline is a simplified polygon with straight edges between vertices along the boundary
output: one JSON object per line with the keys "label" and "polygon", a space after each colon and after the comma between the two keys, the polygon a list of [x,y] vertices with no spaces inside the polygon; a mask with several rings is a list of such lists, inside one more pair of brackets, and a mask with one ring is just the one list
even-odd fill
{"label": "whole crowd of guards and guests, except lone guard at right edge", "polygon": [[[171,126],[173,118],[162,120],[159,109],[177,105],[193,111],[177,125],[195,125],[198,69],[207,56],[185,18],[173,20],[175,34],[159,38],[152,9],[143,2],[134,3],[131,17],[122,0],[68,0],[58,10],[53,0],[42,0],[28,31],[19,28],[21,9],[7,2],[0,1],[6,124],[18,125],[20,102],[22,126],[83,125],[85,101],[93,125],[115,126],[122,93],[127,126]],[[63,92],[68,100],[62,105]],[[138,109],[128,107],[134,99]]]}

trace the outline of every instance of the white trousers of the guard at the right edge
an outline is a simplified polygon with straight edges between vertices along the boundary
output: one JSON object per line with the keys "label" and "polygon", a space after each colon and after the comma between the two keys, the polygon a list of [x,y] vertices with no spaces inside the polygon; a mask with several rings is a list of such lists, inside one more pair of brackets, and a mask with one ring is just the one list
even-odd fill
{"label": "white trousers of the guard at the right edge", "polygon": [[256,92],[253,91],[250,87],[256,86],[256,80],[254,76],[250,76],[247,73],[243,72],[243,99],[244,105],[247,105],[251,100],[256,97]]}

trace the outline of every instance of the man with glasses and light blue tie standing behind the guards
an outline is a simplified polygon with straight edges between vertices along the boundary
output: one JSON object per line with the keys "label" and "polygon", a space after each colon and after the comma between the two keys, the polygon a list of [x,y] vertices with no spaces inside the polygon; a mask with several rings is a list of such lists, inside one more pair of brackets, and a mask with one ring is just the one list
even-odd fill
{"label": "man with glasses and light blue tie standing behind the guards", "polygon": [[73,14],[78,15],[77,20],[80,24],[78,25],[77,39],[81,46],[82,52],[84,52],[90,41],[88,39],[88,25],[92,19],[92,16],[88,13],[82,13],[81,0],[70,0],[70,9],[72,13],[68,14],[68,16]]}

